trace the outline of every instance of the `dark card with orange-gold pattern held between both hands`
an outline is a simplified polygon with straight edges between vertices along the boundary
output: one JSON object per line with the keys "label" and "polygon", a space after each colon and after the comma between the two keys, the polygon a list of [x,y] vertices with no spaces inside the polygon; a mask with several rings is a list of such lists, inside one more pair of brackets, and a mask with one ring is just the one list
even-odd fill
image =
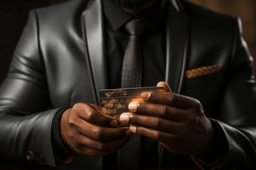
{"label": "dark card with orange-gold pattern held between both hands", "polygon": [[125,112],[130,112],[128,106],[132,102],[145,102],[140,95],[143,92],[165,92],[165,87],[140,87],[131,89],[113,89],[101,90],[102,113],[115,118],[118,121],[118,126],[129,127],[130,124],[122,123],[120,115]]}

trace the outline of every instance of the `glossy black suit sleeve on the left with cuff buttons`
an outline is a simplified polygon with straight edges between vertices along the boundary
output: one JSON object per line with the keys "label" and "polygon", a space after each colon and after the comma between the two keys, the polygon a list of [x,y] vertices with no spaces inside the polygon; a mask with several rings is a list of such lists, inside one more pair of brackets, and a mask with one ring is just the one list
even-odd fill
{"label": "glossy black suit sleeve on the left with cuff buttons", "polygon": [[55,166],[48,83],[40,55],[37,14],[29,21],[0,87],[0,157]]}

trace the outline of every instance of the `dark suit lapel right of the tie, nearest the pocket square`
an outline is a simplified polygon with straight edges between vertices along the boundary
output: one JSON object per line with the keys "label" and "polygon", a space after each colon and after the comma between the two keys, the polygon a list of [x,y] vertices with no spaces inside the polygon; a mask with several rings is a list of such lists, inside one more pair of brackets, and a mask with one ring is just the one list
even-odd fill
{"label": "dark suit lapel right of the tie, nearest the pocket square", "polygon": [[[189,46],[189,22],[182,11],[169,3],[166,29],[166,77],[172,92],[182,91]],[[180,7],[182,9],[182,7]]]}

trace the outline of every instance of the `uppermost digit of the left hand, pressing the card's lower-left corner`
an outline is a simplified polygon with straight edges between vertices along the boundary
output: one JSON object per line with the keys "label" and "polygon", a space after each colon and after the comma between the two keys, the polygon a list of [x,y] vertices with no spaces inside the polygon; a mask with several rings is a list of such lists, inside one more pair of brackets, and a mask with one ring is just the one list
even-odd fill
{"label": "uppermost digit of the left hand, pressing the card's lower-left corner", "polygon": [[[96,107],[96,105],[94,107]],[[87,103],[77,103],[73,106],[73,109],[80,118],[90,123],[107,127],[118,125],[118,121],[116,121],[115,118],[101,114],[101,112],[94,107]]]}

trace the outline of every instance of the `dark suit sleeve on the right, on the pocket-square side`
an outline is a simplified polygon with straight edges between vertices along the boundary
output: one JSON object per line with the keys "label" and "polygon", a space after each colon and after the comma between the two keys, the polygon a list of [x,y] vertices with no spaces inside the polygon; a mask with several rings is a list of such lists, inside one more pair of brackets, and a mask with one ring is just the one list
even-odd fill
{"label": "dark suit sleeve on the right, on the pocket-square side", "polygon": [[219,169],[256,167],[256,88],[252,56],[241,36],[241,20],[235,19],[233,52],[218,120],[229,154]]}

